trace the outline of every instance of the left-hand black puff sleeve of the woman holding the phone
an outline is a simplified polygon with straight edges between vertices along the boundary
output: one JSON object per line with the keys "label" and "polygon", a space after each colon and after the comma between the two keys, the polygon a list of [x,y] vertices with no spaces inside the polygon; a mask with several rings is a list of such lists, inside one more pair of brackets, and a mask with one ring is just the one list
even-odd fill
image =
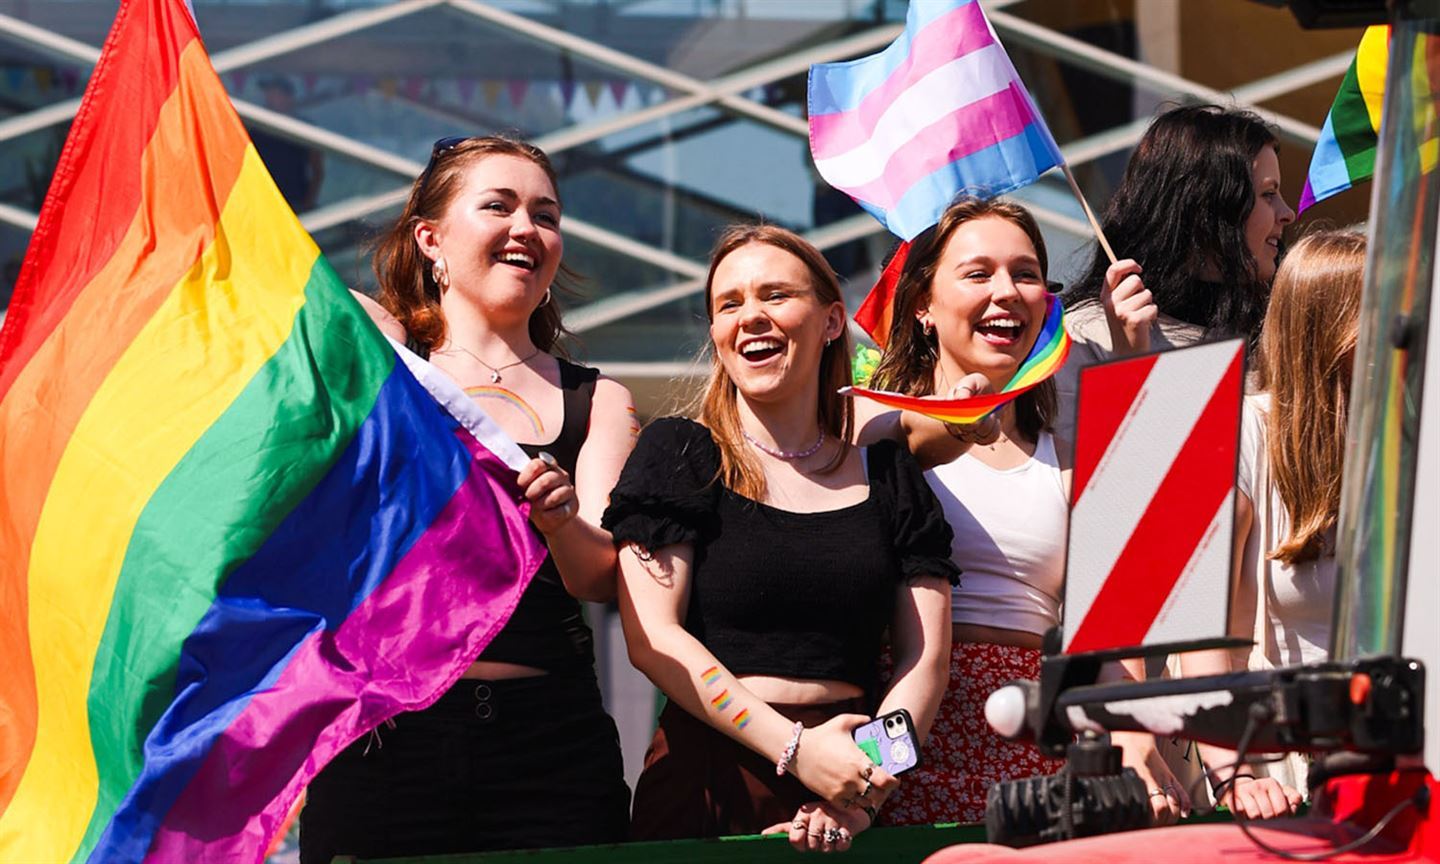
{"label": "left-hand black puff sleeve of the woman holding the phone", "polygon": [[645,428],[611,492],[600,527],[615,546],[655,550],[696,543],[714,527],[719,451],[710,431],[683,418]]}

